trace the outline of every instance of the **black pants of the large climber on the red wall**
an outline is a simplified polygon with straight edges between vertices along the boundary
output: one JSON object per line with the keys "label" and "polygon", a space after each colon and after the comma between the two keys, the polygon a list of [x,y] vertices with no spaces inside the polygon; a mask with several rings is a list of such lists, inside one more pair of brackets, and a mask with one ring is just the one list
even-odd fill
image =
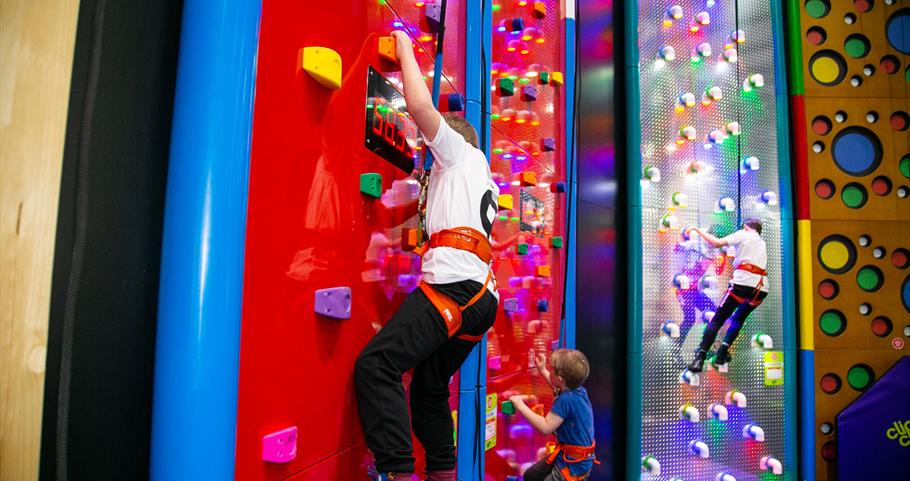
{"label": "black pants of the large climber on the red wall", "polygon": [[[463,306],[483,286],[462,281],[433,287]],[[496,298],[486,292],[462,313],[461,333],[486,332],[496,319],[496,307]],[[418,288],[363,349],[354,367],[357,407],[379,472],[414,471],[412,425],[426,450],[428,471],[455,467],[449,379],[475,344],[450,339],[439,311]],[[412,368],[409,420],[401,375]]]}

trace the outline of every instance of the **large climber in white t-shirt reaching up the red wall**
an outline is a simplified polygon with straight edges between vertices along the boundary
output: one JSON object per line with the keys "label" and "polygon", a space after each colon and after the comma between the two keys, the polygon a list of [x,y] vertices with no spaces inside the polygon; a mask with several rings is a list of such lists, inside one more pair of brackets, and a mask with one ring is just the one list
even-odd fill
{"label": "large climber in white t-shirt reaching up the red wall", "polygon": [[[428,481],[454,481],[449,379],[496,318],[489,237],[499,188],[461,117],[440,115],[411,39],[392,32],[408,113],[434,154],[427,188],[429,248],[421,287],[361,352],[355,366],[360,422],[382,481],[411,480],[411,427],[426,450]],[[414,369],[410,420],[401,376]]]}

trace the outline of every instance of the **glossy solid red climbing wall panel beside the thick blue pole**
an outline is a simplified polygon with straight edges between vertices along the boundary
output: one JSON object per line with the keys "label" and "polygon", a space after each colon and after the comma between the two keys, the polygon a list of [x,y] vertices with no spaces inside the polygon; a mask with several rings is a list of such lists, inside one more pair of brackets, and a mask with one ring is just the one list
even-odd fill
{"label": "glossy solid red climbing wall panel beside the thick blue pole", "polygon": [[[419,42],[421,68],[432,74],[433,37],[421,26],[423,15],[423,8],[403,1],[263,2],[240,346],[238,480],[364,476],[354,360],[414,288],[419,273],[417,258],[397,247],[402,225],[415,223],[416,183],[364,148],[367,71],[372,65],[398,81],[396,67],[380,59],[377,42],[404,28]],[[448,81],[442,93],[463,93],[462,2],[448,2],[447,28]],[[341,56],[338,90],[301,70],[298,52],[311,46]],[[381,174],[380,199],[360,192],[363,173]],[[350,318],[314,314],[314,291],[340,286],[351,288]],[[291,426],[298,428],[296,459],[264,462],[263,436]]]}

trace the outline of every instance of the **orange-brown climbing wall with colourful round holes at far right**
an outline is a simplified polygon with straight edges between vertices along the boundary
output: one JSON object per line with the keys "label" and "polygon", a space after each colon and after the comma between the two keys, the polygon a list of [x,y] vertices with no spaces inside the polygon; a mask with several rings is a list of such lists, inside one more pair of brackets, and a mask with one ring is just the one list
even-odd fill
{"label": "orange-brown climbing wall with colourful round holes at far right", "polygon": [[838,413],[908,354],[908,6],[790,2],[800,347],[814,356],[803,477],[837,479]]}

